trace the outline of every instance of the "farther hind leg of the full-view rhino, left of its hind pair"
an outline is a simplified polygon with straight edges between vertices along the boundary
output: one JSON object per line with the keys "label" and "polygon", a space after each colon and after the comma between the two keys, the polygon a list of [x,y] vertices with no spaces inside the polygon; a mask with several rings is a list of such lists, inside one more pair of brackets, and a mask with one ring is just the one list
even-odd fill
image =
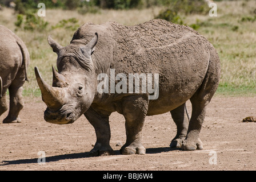
{"label": "farther hind leg of the full-view rhino, left of its hind pair", "polygon": [[186,113],[186,103],[171,110],[171,117],[177,126],[177,134],[173,140],[171,140],[171,148],[181,148],[182,142],[187,135],[187,128],[189,126],[189,118]]}

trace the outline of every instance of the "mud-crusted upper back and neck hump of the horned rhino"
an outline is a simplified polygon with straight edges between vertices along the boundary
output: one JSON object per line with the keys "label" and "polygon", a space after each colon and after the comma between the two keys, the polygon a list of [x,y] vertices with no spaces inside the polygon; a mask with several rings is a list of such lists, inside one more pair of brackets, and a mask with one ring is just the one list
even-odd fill
{"label": "mud-crusted upper back and neck hump of the horned rhino", "polygon": [[122,73],[162,72],[170,65],[173,70],[177,63],[186,60],[184,57],[195,57],[190,62],[196,64],[195,60],[208,56],[210,45],[192,28],[162,19],[135,26],[117,22],[86,23],[75,32],[71,43],[86,44],[95,32],[99,40],[93,60],[107,68],[111,65]]}

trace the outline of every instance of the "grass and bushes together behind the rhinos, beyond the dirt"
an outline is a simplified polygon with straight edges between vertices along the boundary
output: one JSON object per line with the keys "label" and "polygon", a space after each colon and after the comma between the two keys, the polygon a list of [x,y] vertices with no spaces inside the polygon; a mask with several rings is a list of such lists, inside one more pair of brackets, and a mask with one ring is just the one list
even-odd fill
{"label": "grass and bushes together behind the rhinos, beyond the dirt", "polygon": [[[205,36],[217,49],[222,77],[217,94],[256,96],[256,1],[214,1],[217,17],[209,16],[203,0],[0,0],[0,24],[14,31],[30,52],[29,78],[25,96],[40,96],[34,76],[38,66],[43,78],[51,82],[51,67],[57,55],[47,43],[47,36],[63,46],[74,31],[86,22],[95,24],[114,20],[132,25],[154,18],[184,24]],[[46,16],[37,16],[39,2],[46,5]]]}

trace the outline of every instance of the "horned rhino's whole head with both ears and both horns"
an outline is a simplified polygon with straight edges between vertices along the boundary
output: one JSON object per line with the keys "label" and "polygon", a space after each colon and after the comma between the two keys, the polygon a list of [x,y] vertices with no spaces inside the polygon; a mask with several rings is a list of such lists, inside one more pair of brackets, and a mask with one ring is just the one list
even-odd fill
{"label": "horned rhino's whole head with both ears and both horns", "polygon": [[[94,100],[97,81],[91,55],[98,41],[95,33],[89,43],[69,44],[62,47],[50,36],[48,43],[57,53],[58,72],[53,67],[53,84],[47,84],[35,67],[35,77],[47,105],[44,119],[50,123],[69,124],[78,119]],[[97,77],[95,77],[97,78]]]}

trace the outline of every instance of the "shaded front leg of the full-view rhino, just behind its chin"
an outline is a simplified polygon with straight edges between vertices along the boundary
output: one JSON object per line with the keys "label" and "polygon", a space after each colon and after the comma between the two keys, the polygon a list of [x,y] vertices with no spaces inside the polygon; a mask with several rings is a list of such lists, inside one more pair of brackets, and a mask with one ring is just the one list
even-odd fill
{"label": "shaded front leg of the full-view rhino, just behind its chin", "polygon": [[110,126],[109,115],[102,114],[91,107],[84,114],[88,121],[93,125],[96,133],[96,143],[90,151],[90,156],[113,155],[114,151],[110,146]]}

